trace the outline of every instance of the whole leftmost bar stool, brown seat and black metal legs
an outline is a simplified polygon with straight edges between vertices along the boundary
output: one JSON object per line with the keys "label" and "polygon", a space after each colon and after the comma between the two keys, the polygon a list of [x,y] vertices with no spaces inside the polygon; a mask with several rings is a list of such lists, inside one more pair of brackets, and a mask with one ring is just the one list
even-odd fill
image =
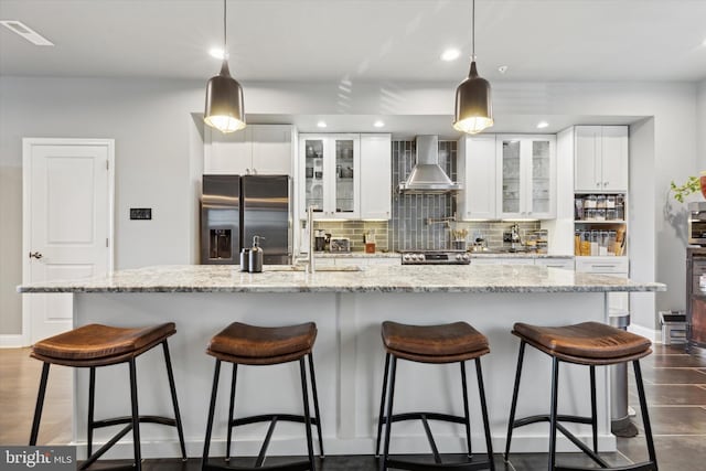
{"label": "whole leftmost bar stool, brown seat and black metal legs", "polygon": [[[174,323],[125,329],[101,324],[88,324],[68,332],[44,339],[32,345],[30,356],[44,362],[42,367],[42,379],[40,382],[40,390],[36,397],[36,408],[34,409],[34,420],[32,422],[32,433],[30,436],[30,446],[36,445],[36,438],[40,429],[40,419],[42,417],[42,407],[44,405],[44,393],[46,392],[46,381],[49,378],[49,367],[51,364],[73,366],[79,368],[90,368],[88,381],[88,428],[87,428],[87,454],[88,458],[81,465],[84,470],[93,464],[115,443],[132,430],[133,458],[135,464],[129,465],[130,469],[140,471],[142,469],[140,456],[140,424],[159,424],[176,427],[179,433],[179,443],[181,446],[182,459],[186,460],[186,448],[184,447],[184,431],[181,425],[181,415],[179,413],[179,403],[176,402],[176,390],[174,388],[174,375],[172,373],[172,363],[169,355],[169,346],[167,339],[176,333]],[[137,370],[135,358],[152,347],[162,344],[164,353],[164,364],[167,366],[167,376],[169,377],[169,388],[172,396],[172,406],[174,408],[174,418],[159,416],[140,416],[138,411],[137,400]],[[117,417],[111,419],[94,420],[95,393],[96,393],[96,367],[116,365],[118,363],[128,363],[130,368],[130,398],[131,415],[129,417]],[[122,430],[116,433],[106,445],[100,447],[98,451],[93,453],[93,432],[94,429],[110,427],[115,425],[127,424]],[[118,467],[120,469],[126,467]],[[113,469],[113,468],[110,468]]]}

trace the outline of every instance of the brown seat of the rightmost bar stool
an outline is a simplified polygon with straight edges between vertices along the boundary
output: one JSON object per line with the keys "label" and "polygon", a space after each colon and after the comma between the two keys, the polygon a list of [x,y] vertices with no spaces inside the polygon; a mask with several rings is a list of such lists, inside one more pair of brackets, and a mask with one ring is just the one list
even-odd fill
{"label": "brown seat of the rightmost bar stool", "polygon": [[599,322],[565,327],[517,322],[512,333],[548,355],[585,365],[624,363],[652,352],[648,339]]}

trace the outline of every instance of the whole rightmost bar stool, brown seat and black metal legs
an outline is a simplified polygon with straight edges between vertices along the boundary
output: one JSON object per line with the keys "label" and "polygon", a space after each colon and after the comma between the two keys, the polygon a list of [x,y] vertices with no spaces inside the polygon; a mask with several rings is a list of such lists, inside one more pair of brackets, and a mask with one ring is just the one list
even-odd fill
{"label": "whole rightmost bar stool, brown seat and black metal legs", "polygon": [[[505,445],[505,461],[510,453],[510,442],[512,431],[517,427],[539,421],[549,422],[549,470],[590,470],[595,468],[575,468],[556,465],[556,431],[559,430],[566,438],[576,445],[584,453],[592,459],[603,469],[617,469],[621,471],[641,470],[649,471],[657,469],[652,441],[652,429],[650,417],[648,416],[648,404],[642,384],[642,372],[640,370],[640,358],[652,353],[651,342],[640,335],[616,329],[599,322],[584,322],[580,324],[565,327],[537,327],[525,323],[515,323],[512,333],[517,335],[520,342],[520,355],[517,357],[517,372],[515,374],[515,386],[512,395],[512,406],[510,408],[510,421],[507,424],[507,441]],[[552,405],[549,415],[537,415],[515,420],[517,406],[517,392],[520,389],[520,376],[522,373],[522,362],[525,353],[525,345],[530,344],[541,352],[552,356]],[[557,411],[557,390],[559,362],[587,365],[590,368],[591,383],[591,416],[568,416]],[[648,441],[649,461],[634,465],[610,468],[609,464],[598,456],[598,419],[596,414],[596,366],[613,365],[618,363],[632,362],[638,395],[640,397],[640,409],[644,425],[645,438]],[[588,448],[574,433],[567,430],[559,422],[590,424],[592,431],[592,449]]]}

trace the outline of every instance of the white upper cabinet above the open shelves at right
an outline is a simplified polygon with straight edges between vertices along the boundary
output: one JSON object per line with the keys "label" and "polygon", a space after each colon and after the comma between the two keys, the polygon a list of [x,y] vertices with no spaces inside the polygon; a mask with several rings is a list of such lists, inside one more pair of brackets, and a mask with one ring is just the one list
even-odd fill
{"label": "white upper cabinet above the open shelves at right", "polygon": [[575,128],[574,189],[628,191],[628,127]]}

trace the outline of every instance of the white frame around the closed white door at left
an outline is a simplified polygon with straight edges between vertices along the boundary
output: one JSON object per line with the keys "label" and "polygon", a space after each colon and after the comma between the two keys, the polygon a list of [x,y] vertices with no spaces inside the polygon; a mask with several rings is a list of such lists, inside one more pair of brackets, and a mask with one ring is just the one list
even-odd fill
{"label": "white frame around the closed white door at left", "polygon": [[[115,139],[22,138],[22,283],[30,282],[32,147],[33,146],[105,146],[108,149],[108,272],[115,261]],[[22,295],[22,346],[30,345],[30,300]]]}

